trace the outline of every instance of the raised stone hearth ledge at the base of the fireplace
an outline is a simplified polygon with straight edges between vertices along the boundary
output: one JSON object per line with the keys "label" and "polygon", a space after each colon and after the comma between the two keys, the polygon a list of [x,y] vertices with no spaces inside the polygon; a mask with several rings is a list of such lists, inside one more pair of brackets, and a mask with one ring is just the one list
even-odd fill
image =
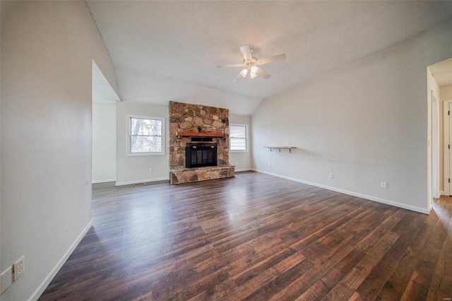
{"label": "raised stone hearth ledge at the base of the fireplace", "polygon": [[186,168],[169,172],[171,184],[206,181],[208,179],[221,179],[234,177],[234,165],[222,165],[215,167]]}

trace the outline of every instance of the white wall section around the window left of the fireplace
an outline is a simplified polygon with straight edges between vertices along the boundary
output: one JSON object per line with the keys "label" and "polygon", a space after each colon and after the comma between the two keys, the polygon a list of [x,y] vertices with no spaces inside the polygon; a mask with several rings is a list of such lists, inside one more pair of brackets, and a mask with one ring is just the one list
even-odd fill
{"label": "white wall section around the window left of the fireplace", "polygon": [[[116,184],[134,184],[169,179],[169,110],[167,105],[117,102]],[[165,117],[165,155],[127,156],[127,114]],[[149,172],[149,168],[153,172]]]}

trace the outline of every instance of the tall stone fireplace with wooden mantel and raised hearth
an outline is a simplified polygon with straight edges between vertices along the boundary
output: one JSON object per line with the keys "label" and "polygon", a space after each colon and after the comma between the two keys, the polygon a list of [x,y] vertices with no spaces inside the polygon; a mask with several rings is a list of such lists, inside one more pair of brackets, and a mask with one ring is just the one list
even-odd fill
{"label": "tall stone fireplace with wooden mantel and raised hearth", "polygon": [[229,165],[229,110],[169,102],[171,183],[233,176],[234,166]]}

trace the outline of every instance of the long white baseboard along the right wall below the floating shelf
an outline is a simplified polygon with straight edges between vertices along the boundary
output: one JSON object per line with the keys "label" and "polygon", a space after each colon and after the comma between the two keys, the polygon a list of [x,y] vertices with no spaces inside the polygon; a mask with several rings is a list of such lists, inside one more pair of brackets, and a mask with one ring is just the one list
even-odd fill
{"label": "long white baseboard along the right wall below the floating shelf", "polygon": [[335,192],[340,192],[341,194],[348,194],[350,196],[357,196],[359,198],[367,199],[369,201],[376,201],[376,202],[379,202],[379,203],[386,203],[386,205],[396,206],[398,208],[408,209],[408,210],[411,210],[411,211],[424,213],[424,214],[429,214],[430,213],[429,209],[424,209],[424,208],[420,208],[420,207],[416,207],[416,206],[410,206],[410,205],[407,205],[405,203],[399,203],[397,201],[389,201],[389,200],[386,200],[386,199],[380,199],[380,198],[377,198],[375,196],[368,196],[366,194],[359,194],[359,193],[353,192],[353,191],[347,191],[347,190],[344,190],[344,189],[338,189],[338,188],[335,188],[335,187],[329,187],[329,186],[322,185],[322,184],[316,184],[316,183],[313,183],[313,182],[307,182],[307,181],[303,181],[302,179],[295,179],[293,177],[285,177],[283,175],[277,175],[277,174],[273,174],[271,172],[265,172],[263,170],[256,170],[256,169],[253,169],[253,170],[255,172],[261,172],[263,174],[270,175],[270,176],[273,176],[273,177],[280,177],[282,179],[288,179],[290,181],[299,182],[299,183],[302,183],[302,184],[307,184],[309,186],[314,186],[314,187],[319,187],[319,188],[323,188],[323,189],[327,189],[327,190],[331,190],[331,191],[335,191]]}

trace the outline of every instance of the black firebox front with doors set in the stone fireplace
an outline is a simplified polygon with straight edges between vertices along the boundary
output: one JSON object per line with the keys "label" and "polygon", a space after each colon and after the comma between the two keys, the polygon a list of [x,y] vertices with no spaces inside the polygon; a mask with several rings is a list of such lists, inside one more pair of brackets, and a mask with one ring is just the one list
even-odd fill
{"label": "black firebox front with doors set in the stone fireplace", "polygon": [[217,166],[217,145],[215,143],[187,143],[185,167]]}

